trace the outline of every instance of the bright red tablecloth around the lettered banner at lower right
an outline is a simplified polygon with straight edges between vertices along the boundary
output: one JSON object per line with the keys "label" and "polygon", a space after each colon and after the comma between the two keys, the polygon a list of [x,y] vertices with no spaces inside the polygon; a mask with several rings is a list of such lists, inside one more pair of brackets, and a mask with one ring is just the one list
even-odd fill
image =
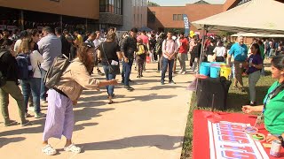
{"label": "bright red tablecloth around the lettered banner at lower right", "polygon": [[[208,119],[204,116],[204,110],[194,110],[193,111],[193,159],[207,159],[210,158],[209,149],[209,129],[208,129]],[[241,113],[226,113],[226,112],[216,112],[222,121],[234,122],[234,123],[244,123],[255,125],[256,116],[241,114]],[[267,134],[264,129],[264,125],[260,126],[259,133]],[[270,148],[264,148],[266,154],[270,158],[275,158],[269,155]],[[281,148],[281,157],[284,159],[284,148]],[[275,158],[276,159],[276,158]],[[279,159],[279,158],[278,158]]]}

